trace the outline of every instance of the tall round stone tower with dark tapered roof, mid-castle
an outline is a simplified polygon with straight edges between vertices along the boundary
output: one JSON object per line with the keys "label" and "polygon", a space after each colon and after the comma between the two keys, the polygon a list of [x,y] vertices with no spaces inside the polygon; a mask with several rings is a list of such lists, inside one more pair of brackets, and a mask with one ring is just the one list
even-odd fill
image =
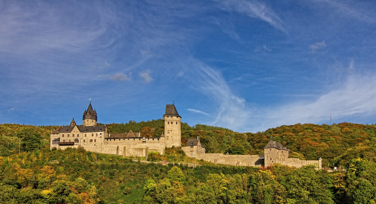
{"label": "tall round stone tower with dark tapered roof, mid-castle", "polygon": [[166,112],[163,115],[163,120],[165,121],[164,136],[166,147],[182,146],[181,118],[174,104],[166,105]]}

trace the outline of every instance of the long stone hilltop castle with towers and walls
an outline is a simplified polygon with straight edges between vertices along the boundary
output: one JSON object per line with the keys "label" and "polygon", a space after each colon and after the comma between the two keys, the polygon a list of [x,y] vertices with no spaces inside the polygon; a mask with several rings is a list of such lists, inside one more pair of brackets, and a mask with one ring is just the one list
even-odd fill
{"label": "long stone hilltop castle with towers and walls", "polygon": [[[175,105],[166,105],[164,120],[164,134],[159,137],[140,137],[139,133],[109,133],[106,125],[97,125],[97,112],[93,110],[91,102],[83,112],[82,124],[77,126],[74,118],[70,126],[61,126],[51,130],[50,148],[64,150],[68,147],[83,147],[87,151],[115,154],[122,156],[147,157],[149,151],[164,154],[165,147],[181,147],[181,117]],[[289,151],[279,142],[270,139],[261,155],[229,155],[222,153],[206,153],[200,137],[188,139],[182,150],[187,156],[196,157],[214,163],[237,166],[270,166],[274,163],[295,166],[316,164],[321,168],[319,160],[300,160],[288,158]]]}

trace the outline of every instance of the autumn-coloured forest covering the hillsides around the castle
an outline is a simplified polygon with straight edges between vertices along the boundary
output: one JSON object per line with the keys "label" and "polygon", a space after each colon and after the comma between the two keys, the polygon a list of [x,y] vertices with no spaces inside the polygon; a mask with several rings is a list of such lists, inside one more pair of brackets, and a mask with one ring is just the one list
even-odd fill
{"label": "autumn-coloured forest covering the hillsides around the castle", "polygon": [[[108,124],[108,130],[138,132],[149,127],[158,135],[163,125],[161,120],[129,121]],[[200,136],[208,153],[260,154],[272,137],[290,149],[290,157],[321,157],[323,167],[344,169],[334,172],[314,166],[252,168],[201,162],[193,168],[153,162],[185,161],[176,147],[152,156],[150,163],[82,148],[50,150],[49,133],[56,127],[0,124],[0,203],[376,203],[373,124],[295,124],[238,133],[182,123],[182,145]]]}

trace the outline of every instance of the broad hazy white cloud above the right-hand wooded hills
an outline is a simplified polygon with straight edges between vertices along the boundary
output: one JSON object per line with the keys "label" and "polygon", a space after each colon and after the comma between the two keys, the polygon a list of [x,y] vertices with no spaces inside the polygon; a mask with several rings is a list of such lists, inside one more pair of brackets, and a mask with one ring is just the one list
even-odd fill
{"label": "broad hazy white cloud above the right-hand wooded hills", "polygon": [[332,114],[338,119],[357,115],[376,114],[376,77],[352,76],[337,89],[331,90],[314,101],[270,108],[265,111],[264,128],[283,124],[318,123],[328,121]]}

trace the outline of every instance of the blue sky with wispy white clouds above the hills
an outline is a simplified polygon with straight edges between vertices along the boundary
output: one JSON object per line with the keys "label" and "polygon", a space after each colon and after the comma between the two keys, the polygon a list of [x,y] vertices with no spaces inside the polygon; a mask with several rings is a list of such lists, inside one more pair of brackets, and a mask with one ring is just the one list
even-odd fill
{"label": "blue sky with wispy white clouds above the hills", "polygon": [[376,123],[376,2],[0,0],[0,123]]}

